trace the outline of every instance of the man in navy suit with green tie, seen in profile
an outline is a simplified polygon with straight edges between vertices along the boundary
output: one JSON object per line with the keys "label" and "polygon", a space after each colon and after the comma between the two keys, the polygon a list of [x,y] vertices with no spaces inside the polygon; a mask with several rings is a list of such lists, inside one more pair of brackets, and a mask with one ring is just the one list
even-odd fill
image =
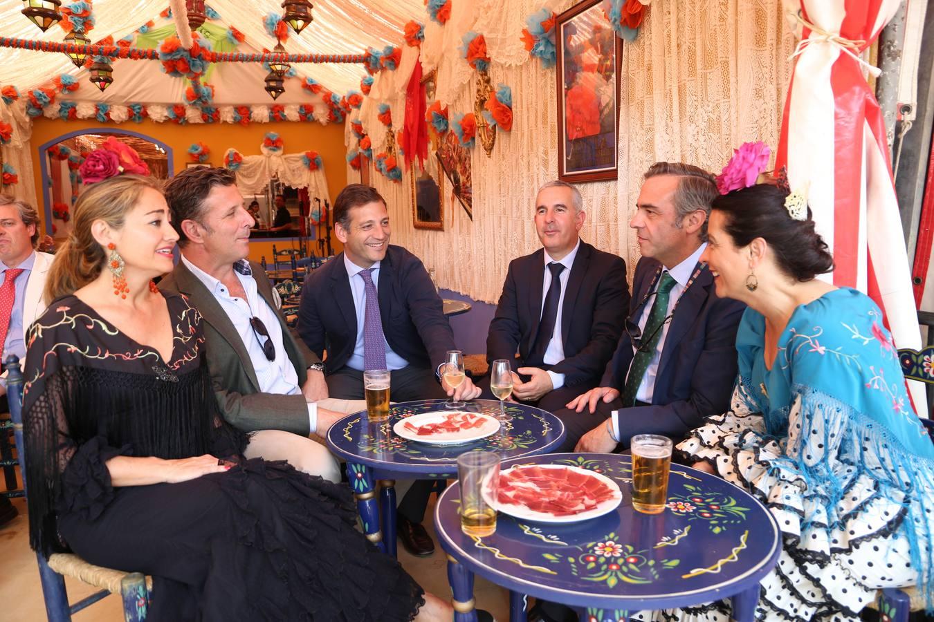
{"label": "man in navy suit with green tie, seen in profile", "polygon": [[714,176],[695,166],[658,162],[645,173],[630,220],[643,256],[626,330],[600,385],[567,405],[605,417],[577,451],[628,449],[637,434],[679,440],[729,408],[745,307],[716,297],[714,277],[699,262],[716,194]]}

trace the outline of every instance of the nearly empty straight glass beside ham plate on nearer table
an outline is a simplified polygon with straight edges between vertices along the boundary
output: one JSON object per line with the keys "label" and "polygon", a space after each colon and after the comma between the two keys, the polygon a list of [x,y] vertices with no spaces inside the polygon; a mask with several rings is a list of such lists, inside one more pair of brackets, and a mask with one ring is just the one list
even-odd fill
{"label": "nearly empty straight glass beside ham plate on nearer table", "polygon": [[500,489],[500,456],[491,451],[467,451],[458,456],[460,530],[484,537],[496,531],[495,503]]}

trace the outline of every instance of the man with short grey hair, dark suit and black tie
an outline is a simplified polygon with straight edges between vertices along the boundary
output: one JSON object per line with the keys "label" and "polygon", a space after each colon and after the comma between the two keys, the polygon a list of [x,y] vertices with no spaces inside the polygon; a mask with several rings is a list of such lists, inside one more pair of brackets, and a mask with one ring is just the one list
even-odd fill
{"label": "man with short grey hair, dark suit and black tie", "polygon": [[[513,362],[513,398],[551,412],[597,386],[630,302],[626,263],[580,239],[586,218],[576,187],[553,181],[539,189],[535,230],[543,248],[510,262],[489,325],[487,360]],[[487,382],[484,397],[492,397]],[[566,451],[599,422],[591,413],[559,417],[567,432],[559,450]]]}

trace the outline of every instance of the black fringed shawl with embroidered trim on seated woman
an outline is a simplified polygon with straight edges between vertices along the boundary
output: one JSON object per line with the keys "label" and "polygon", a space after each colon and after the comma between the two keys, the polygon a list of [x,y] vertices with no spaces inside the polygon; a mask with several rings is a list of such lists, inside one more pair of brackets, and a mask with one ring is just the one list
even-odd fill
{"label": "black fringed shawl with embroidered trim on seated woman", "polygon": [[168,361],[74,296],[52,302],[30,328],[23,437],[35,550],[62,549],[57,514],[104,512],[114,456],[233,456],[246,446],[247,435],[219,415],[200,314],[164,296],[175,333]]}

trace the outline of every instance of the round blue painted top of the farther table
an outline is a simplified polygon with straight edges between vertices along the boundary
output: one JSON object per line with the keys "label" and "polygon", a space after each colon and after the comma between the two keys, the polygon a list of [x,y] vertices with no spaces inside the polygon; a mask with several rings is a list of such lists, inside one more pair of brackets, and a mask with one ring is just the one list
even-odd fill
{"label": "round blue painted top of the farther table", "polygon": [[[497,451],[502,460],[531,457],[558,447],[564,424],[550,412],[524,404],[505,403],[500,432],[462,445],[437,446],[404,439],[392,426],[406,417],[433,410],[449,410],[444,399],[400,402],[389,408],[389,420],[369,422],[363,410],[334,423],[328,430],[328,448],[349,463],[361,463],[380,473],[457,477],[458,456],[465,451]],[[476,399],[458,410],[484,412],[501,418],[500,402]]]}

